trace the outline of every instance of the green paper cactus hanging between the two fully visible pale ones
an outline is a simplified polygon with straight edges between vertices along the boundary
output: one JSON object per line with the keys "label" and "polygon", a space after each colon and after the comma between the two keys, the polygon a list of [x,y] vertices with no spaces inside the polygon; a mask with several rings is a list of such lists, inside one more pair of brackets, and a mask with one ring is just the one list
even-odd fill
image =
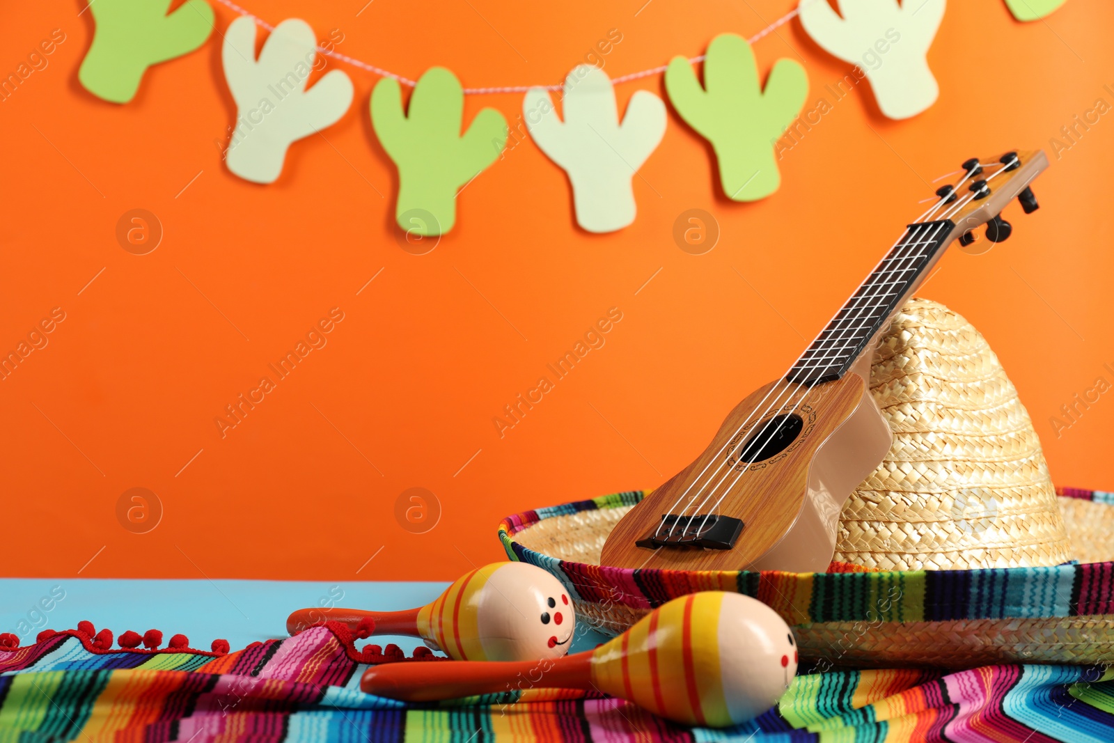
{"label": "green paper cactus hanging between the two fully visible pale ones", "polygon": [[432,67],[421,76],[402,113],[398,80],[383,78],[371,94],[371,125],[399,168],[394,218],[402,229],[432,237],[457,222],[457,189],[499,157],[507,120],[485,108],[461,136],[465,92],[456,76]]}

